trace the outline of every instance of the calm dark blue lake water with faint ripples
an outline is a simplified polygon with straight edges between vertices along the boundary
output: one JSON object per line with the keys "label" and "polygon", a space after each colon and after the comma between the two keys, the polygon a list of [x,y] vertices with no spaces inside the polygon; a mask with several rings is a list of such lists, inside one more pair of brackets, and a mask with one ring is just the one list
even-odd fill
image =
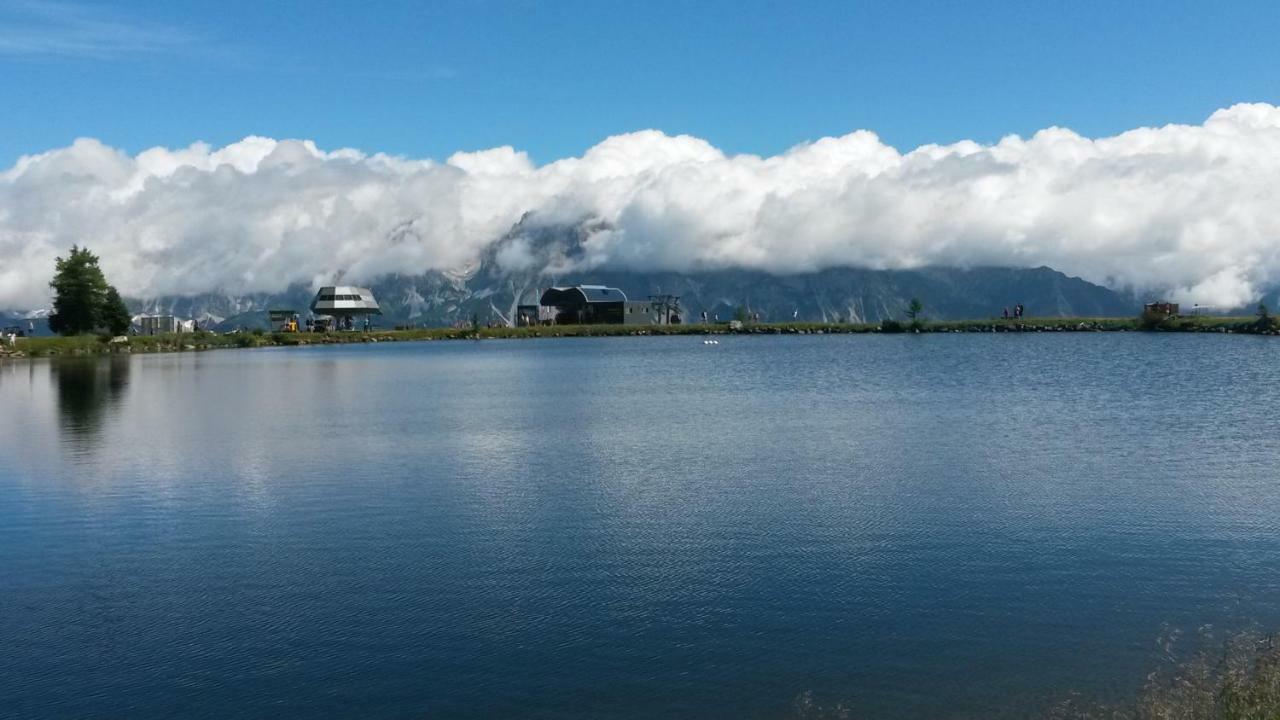
{"label": "calm dark blue lake water with faint ripples", "polygon": [[1280,624],[1275,338],[0,365],[0,715],[1023,716]]}

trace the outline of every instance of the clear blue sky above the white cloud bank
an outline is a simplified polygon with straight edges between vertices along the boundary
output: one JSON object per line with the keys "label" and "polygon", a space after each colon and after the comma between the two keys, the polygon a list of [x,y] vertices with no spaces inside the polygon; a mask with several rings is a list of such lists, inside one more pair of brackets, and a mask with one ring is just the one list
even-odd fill
{"label": "clear blue sky above the white cloud bank", "polygon": [[774,154],[1089,136],[1280,101],[1280,3],[0,0],[0,167],[248,135],[539,163],[657,128]]}

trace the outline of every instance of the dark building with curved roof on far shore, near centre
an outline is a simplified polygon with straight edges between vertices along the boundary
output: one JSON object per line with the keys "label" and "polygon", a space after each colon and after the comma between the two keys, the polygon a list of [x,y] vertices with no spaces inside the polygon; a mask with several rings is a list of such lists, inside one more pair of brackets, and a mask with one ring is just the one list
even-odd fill
{"label": "dark building with curved roof on far shore, near centre", "polygon": [[580,284],[549,287],[538,305],[516,307],[517,325],[655,325],[680,323],[680,299],[654,296],[627,300],[616,287]]}

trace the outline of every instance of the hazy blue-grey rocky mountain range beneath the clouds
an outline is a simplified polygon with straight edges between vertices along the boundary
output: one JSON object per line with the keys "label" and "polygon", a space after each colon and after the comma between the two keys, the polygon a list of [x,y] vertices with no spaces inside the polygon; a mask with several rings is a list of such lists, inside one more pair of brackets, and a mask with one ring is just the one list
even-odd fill
{"label": "hazy blue-grey rocky mountain range beneath the clouds", "polygon": [[[1129,293],[1051,268],[831,268],[800,274],[593,269],[585,266],[584,247],[598,231],[590,223],[538,225],[526,219],[468,268],[385,275],[361,284],[374,291],[383,309],[380,327],[451,325],[472,318],[507,323],[517,305],[536,304],[544,288],[567,284],[617,287],[631,300],[675,295],[687,320],[703,311],[708,318],[728,319],[741,307],[773,322],[877,323],[902,319],[913,297],[933,319],[1000,316],[1015,304],[1023,304],[1032,316],[1123,316],[1140,306]],[[314,288],[298,283],[278,293],[129,299],[128,305],[136,314],[173,314],[196,319],[202,328],[225,331],[265,327],[268,309],[306,314],[312,296]],[[44,313],[23,315],[38,319]],[[10,324],[4,318],[0,322]]]}

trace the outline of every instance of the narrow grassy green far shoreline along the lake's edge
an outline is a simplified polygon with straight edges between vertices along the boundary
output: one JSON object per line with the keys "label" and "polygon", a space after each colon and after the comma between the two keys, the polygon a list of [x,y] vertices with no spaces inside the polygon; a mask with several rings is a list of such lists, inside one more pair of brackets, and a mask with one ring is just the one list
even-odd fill
{"label": "narrow grassy green far shoreline along the lake's edge", "polygon": [[209,332],[159,336],[129,336],[120,342],[99,336],[18,338],[15,347],[0,348],[0,357],[51,357],[63,355],[119,355],[134,352],[195,352],[228,347],[291,347],[307,345],[346,345],[353,342],[417,342],[475,338],[535,337],[622,337],[622,336],[698,336],[698,334],[868,334],[895,332],[922,333],[1018,333],[1018,332],[1211,332],[1280,334],[1266,329],[1257,318],[1172,318],[1144,327],[1138,318],[1023,318],[1019,320],[937,320],[919,328],[872,323],[748,323],[741,328],[716,325],[556,325],[532,328],[419,328],[340,333],[256,333],[215,334]]}

